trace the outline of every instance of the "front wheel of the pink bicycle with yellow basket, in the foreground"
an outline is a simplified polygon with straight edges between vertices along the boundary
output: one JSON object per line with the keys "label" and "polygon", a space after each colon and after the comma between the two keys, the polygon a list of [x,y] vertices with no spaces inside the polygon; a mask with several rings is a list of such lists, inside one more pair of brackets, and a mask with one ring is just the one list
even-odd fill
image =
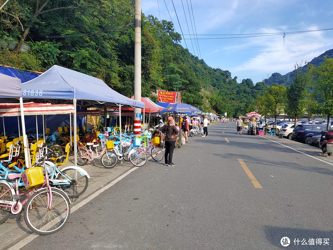
{"label": "front wheel of the pink bicycle with yellow basket, in the foreground", "polygon": [[61,190],[52,190],[52,204],[49,207],[50,193],[48,189],[33,194],[24,208],[24,221],[35,233],[48,235],[58,232],[65,226],[71,207],[66,194]]}

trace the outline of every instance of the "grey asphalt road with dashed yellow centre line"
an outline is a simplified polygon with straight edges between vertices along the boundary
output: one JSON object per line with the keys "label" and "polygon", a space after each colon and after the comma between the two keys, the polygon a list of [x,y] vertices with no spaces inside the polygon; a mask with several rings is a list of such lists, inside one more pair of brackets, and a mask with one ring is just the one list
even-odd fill
{"label": "grey asphalt road with dashed yellow centre line", "polygon": [[318,149],[230,122],[189,138],[173,162],[130,170],[21,249],[333,249],[333,161]]}

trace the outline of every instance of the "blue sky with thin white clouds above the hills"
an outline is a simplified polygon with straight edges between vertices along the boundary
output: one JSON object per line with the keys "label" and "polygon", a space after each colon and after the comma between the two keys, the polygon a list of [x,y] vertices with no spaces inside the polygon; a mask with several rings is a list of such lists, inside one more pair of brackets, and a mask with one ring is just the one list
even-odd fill
{"label": "blue sky with thin white clouds above the hills", "polygon": [[[184,48],[237,82],[284,75],[333,49],[332,0],[141,0],[141,9],[172,21]],[[323,31],[298,33],[310,30]]]}

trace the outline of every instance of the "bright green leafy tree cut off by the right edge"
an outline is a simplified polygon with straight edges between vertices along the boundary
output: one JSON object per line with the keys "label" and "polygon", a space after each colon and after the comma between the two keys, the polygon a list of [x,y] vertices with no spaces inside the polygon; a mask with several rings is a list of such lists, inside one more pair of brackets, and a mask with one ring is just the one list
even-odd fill
{"label": "bright green leafy tree cut off by the right edge", "polygon": [[[311,77],[311,85],[315,95],[322,100],[322,113],[327,116],[329,121],[333,114],[333,59],[325,57],[324,63],[315,68],[313,65],[308,66],[308,74]],[[327,130],[329,122],[327,122]]]}

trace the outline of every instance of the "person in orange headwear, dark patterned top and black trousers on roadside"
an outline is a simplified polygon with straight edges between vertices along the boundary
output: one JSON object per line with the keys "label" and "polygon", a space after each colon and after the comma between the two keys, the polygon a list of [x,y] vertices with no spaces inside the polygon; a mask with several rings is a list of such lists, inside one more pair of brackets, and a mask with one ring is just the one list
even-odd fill
{"label": "person in orange headwear, dark patterned top and black trousers on roadside", "polygon": [[166,150],[164,152],[165,155],[165,163],[164,165],[167,166],[175,166],[172,163],[172,155],[173,155],[173,150],[174,146],[176,143],[176,134],[179,132],[177,127],[175,126],[174,120],[172,116],[169,116],[167,118],[167,124],[164,125],[162,128],[159,128],[162,133],[166,134],[166,137],[164,138],[164,143],[166,146]]}

